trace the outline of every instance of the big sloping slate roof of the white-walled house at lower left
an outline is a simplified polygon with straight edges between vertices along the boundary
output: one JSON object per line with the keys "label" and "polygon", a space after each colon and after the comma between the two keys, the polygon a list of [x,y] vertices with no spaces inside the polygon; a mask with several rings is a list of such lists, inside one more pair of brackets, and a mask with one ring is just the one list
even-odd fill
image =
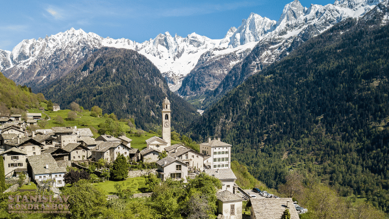
{"label": "big sloping slate roof of the white-walled house at lower left", "polygon": [[[47,174],[47,173],[64,173],[66,172],[65,167],[58,167],[51,154],[41,154],[27,157],[29,164],[35,175]],[[49,164],[49,168],[46,169],[46,164]]]}

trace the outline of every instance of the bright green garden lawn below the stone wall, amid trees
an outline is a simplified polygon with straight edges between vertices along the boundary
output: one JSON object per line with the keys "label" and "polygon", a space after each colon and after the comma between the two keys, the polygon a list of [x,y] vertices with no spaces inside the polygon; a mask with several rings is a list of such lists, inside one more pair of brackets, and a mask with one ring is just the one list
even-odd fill
{"label": "bright green garden lawn below the stone wall, amid trees", "polygon": [[145,193],[148,191],[145,179],[143,177],[128,178],[124,181],[106,181],[104,183],[93,183],[96,187],[101,188],[106,194],[113,195],[117,191],[114,187],[115,183],[122,184],[122,189],[130,189],[133,193]]}

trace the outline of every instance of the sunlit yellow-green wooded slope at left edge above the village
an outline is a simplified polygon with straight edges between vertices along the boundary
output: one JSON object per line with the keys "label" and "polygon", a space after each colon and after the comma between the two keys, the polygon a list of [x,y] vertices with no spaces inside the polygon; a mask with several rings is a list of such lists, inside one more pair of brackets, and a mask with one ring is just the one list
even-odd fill
{"label": "sunlit yellow-green wooded slope at left edge above the village", "polygon": [[10,108],[21,110],[37,108],[39,102],[44,100],[42,93],[32,93],[31,88],[16,85],[0,72],[0,113],[9,113]]}

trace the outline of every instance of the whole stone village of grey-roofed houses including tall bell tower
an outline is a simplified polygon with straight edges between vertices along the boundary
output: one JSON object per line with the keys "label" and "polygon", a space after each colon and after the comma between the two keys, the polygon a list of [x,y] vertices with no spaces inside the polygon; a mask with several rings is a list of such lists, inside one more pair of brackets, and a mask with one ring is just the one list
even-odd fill
{"label": "whole stone village of grey-roofed houses including tall bell tower", "polygon": [[[242,219],[242,201],[248,201],[250,219],[265,219],[270,215],[271,218],[280,218],[285,209],[289,210],[291,219],[299,219],[299,214],[306,212],[291,198],[279,198],[257,188],[240,188],[230,168],[232,146],[220,138],[209,138],[199,144],[201,152],[181,144],[171,145],[170,106],[166,97],[161,110],[162,136],[146,139],[147,147],[142,150],[131,147],[132,140],[124,135],[102,134],[93,138],[89,128],[52,127],[28,131],[27,127],[42,119],[41,113],[26,113],[27,121],[22,121],[20,114],[2,116],[0,155],[5,178],[12,181],[25,175],[26,183],[32,181],[37,186],[49,182],[54,193],[59,195],[58,188],[65,186],[67,167],[82,167],[80,162],[99,160],[104,160],[109,166],[118,156],[124,155],[130,162],[155,163],[157,168],[152,170],[161,182],[167,178],[186,181],[202,172],[215,177],[222,184],[216,193],[220,219]],[[59,106],[54,105],[53,109],[59,110]],[[131,170],[128,176],[131,176]]]}

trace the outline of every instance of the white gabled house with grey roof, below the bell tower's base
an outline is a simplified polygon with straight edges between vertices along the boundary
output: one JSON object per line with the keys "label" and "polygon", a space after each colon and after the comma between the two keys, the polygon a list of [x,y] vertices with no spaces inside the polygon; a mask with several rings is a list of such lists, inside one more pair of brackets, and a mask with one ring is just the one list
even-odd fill
{"label": "white gabled house with grey roof, below the bell tower's base", "polygon": [[175,180],[186,180],[188,176],[188,165],[182,162],[182,160],[167,156],[157,161],[156,174],[161,181],[165,181],[167,178]]}

